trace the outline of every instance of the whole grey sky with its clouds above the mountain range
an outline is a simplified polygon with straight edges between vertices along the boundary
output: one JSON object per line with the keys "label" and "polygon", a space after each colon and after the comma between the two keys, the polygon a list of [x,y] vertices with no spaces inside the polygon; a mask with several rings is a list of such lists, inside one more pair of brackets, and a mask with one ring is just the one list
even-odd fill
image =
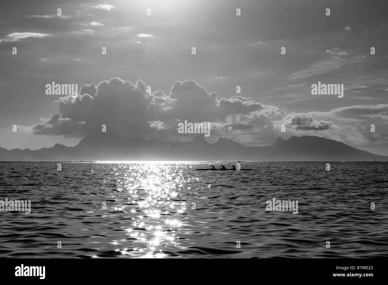
{"label": "whole grey sky with its clouds above the mountain range", "polygon": [[102,124],[185,142],[187,120],[210,122],[209,143],[315,135],[388,155],[384,1],[106,1],[2,1],[0,147],[74,146]]}

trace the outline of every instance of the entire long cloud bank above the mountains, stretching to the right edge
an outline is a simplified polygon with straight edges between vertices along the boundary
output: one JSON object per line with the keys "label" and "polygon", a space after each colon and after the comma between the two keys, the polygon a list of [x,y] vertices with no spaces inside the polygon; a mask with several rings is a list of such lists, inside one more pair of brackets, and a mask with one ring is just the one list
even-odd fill
{"label": "entire long cloud bank above the mountains, stretching to the right edge", "polygon": [[[364,135],[362,126],[388,123],[388,104],[341,107],[329,112],[288,113],[249,97],[218,98],[194,80],[176,81],[166,94],[148,93],[145,83],[113,78],[83,85],[76,95],[54,102],[57,113],[24,127],[36,135],[83,137],[95,127],[125,136],[191,140],[177,133],[178,122],[210,122],[210,141],[226,136],[246,145],[269,145],[277,136],[318,135],[350,145],[381,143]],[[281,133],[281,125],[286,133]],[[357,127],[357,124],[360,124]],[[339,125],[347,126],[346,130]],[[366,131],[365,131],[366,132]],[[366,134],[366,133],[365,133]]]}

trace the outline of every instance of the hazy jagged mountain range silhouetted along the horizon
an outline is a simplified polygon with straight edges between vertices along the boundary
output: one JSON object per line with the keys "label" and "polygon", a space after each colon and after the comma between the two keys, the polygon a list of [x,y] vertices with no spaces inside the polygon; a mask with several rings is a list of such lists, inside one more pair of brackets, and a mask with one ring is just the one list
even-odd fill
{"label": "hazy jagged mountain range silhouetted along the horizon", "polygon": [[220,137],[210,144],[203,135],[191,142],[127,138],[114,131],[93,130],[75,147],[59,143],[39,150],[0,147],[0,161],[388,161],[345,143],[318,136],[277,138],[274,145],[247,147]]}

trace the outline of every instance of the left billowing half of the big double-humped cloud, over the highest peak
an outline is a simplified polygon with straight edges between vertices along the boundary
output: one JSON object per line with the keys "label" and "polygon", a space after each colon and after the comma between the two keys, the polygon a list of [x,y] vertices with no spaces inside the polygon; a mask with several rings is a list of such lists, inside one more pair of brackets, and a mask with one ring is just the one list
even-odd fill
{"label": "left billowing half of the big double-humped cloud, over the highest peak", "polygon": [[[58,113],[42,119],[32,128],[36,135],[84,136],[96,125],[107,124],[115,130],[128,132],[130,126],[137,128],[139,135],[149,127],[148,121],[157,121],[173,100],[163,92],[149,94],[138,80],[113,78],[96,85],[83,85],[77,95],[68,95],[54,102]],[[154,124],[155,125],[155,124]],[[158,125],[159,128],[161,127]]]}

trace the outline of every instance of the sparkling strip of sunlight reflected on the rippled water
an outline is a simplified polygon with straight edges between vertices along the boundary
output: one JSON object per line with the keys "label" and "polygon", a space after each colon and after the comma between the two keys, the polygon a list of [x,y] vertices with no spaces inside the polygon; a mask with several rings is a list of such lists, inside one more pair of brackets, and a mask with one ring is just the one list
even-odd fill
{"label": "sparkling strip of sunlight reflected on the rippled water", "polygon": [[177,216],[185,214],[187,201],[179,194],[186,181],[178,164],[123,162],[114,164],[110,175],[104,183],[112,187],[114,182],[116,191],[110,197],[117,202],[110,209],[132,219],[122,239],[111,242],[117,254],[163,258],[163,251],[181,244],[175,232],[184,225],[185,218]]}

